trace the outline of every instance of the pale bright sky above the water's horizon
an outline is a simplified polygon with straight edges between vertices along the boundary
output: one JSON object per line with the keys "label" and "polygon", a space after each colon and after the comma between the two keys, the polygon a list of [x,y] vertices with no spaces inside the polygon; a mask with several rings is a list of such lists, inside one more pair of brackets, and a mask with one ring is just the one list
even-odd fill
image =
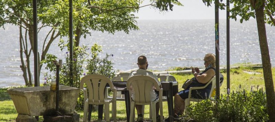
{"label": "pale bright sky above the water's horizon", "polygon": [[[146,6],[140,8],[136,14],[140,20],[151,19],[214,19],[214,4],[207,7],[202,0],[179,0],[184,6],[173,7],[173,11],[159,12],[159,10]],[[224,0],[226,1],[226,0]],[[149,4],[149,0],[145,0],[142,5]],[[219,19],[226,19],[226,11],[219,10]]]}

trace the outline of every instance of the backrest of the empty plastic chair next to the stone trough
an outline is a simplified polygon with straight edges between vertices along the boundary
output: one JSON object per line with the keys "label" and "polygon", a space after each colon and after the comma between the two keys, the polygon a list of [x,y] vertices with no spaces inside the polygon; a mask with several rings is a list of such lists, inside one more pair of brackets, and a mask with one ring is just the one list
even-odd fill
{"label": "backrest of the empty plastic chair next to the stone trough", "polygon": [[80,89],[83,89],[84,83],[87,85],[89,91],[88,99],[93,103],[94,101],[104,103],[104,89],[107,83],[111,90],[115,90],[112,81],[106,76],[100,74],[89,74],[83,77],[80,82]]}

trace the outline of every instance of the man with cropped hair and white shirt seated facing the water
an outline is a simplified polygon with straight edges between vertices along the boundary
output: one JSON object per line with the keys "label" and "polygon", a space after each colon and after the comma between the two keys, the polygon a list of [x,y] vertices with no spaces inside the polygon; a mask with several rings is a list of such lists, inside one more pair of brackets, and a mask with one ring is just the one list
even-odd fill
{"label": "man with cropped hair and white shirt seated facing the water", "polygon": [[[135,75],[145,75],[145,76],[150,76],[151,78],[154,78],[158,84],[159,87],[161,88],[161,83],[159,82],[158,77],[150,72],[147,71],[147,67],[148,67],[148,62],[147,62],[147,58],[145,56],[140,56],[137,58],[137,65],[139,67],[139,69],[137,71],[132,71],[129,74],[129,78],[135,76]],[[159,99],[158,94],[154,91],[154,89],[152,89],[152,91],[150,92],[151,95],[151,101],[155,101],[157,99]],[[134,99],[135,96],[132,95],[132,99]],[[135,106],[137,109],[137,122],[143,122],[143,115],[142,115],[142,105],[136,105]],[[156,116],[157,116],[157,122],[160,122],[160,115],[159,115],[159,103],[156,104]]]}

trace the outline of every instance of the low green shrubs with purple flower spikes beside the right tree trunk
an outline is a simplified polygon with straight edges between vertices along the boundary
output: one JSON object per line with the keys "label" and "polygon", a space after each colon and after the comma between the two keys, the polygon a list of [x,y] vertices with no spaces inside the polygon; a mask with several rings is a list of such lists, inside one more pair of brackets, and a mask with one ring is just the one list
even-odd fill
{"label": "low green shrubs with purple flower spikes beside the right tree trunk", "polygon": [[221,95],[216,102],[209,99],[186,108],[187,119],[196,122],[268,122],[267,101],[263,89]]}

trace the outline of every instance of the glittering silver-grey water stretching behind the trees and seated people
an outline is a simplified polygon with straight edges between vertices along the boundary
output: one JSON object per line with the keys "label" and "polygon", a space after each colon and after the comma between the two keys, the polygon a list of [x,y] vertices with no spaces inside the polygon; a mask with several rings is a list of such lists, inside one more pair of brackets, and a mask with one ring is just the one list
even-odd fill
{"label": "glittering silver-grey water stretching behind the trees and seated people", "polygon": [[[261,63],[256,20],[235,22],[230,25],[230,63]],[[177,66],[203,66],[206,53],[215,53],[214,20],[139,20],[140,28],[129,34],[116,32],[91,32],[91,36],[81,39],[81,44],[91,46],[97,43],[105,53],[113,54],[110,59],[115,70],[137,68],[137,57],[145,55],[148,69],[166,70]],[[39,32],[39,52],[42,52],[44,37],[50,28]],[[275,62],[275,27],[266,25],[271,64]],[[20,69],[19,28],[6,25],[0,29],[0,87],[24,85]],[[48,53],[64,57],[55,40]],[[33,60],[32,60],[33,62]],[[226,20],[220,20],[220,64],[226,66]],[[30,64],[33,70],[33,63]],[[41,72],[46,72],[42,68]],[[40,82],[43,82],[41,74]]]}

